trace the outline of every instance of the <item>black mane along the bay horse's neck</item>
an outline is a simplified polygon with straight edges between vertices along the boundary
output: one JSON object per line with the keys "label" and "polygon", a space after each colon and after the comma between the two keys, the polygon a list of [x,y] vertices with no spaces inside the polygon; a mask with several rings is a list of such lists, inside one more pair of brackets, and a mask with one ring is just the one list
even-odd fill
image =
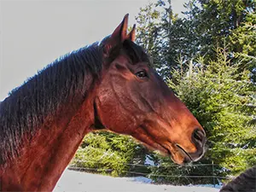
{"label": "black mane along the bay horse's neck", "polygon": [[25,134],[33,135],[47,115],[78,94],[86,95],[86,75],[98,77],[102,50],[98,44],[61,56],[41,72],[12,90],[0,102],[0,165],[17,154]]}

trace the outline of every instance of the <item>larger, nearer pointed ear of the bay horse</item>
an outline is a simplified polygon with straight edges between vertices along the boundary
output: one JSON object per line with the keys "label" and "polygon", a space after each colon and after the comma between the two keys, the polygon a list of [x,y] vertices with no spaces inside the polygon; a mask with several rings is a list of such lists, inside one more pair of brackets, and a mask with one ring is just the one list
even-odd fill
{"label": "larger, nearer pointed ear of the bay horse", "polygon": [[104,54],[108,55],[110,49],[122,44],[127,38],[128,16],[129,14],[125,15],[122,22],[116,27],[110,38],[108,38],[108,41],[104,45]]}

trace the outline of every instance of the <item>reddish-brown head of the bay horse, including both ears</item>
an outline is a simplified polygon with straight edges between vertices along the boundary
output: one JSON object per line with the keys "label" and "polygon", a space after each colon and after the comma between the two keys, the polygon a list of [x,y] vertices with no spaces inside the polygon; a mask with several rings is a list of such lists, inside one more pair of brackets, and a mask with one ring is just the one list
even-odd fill
{"label": "reddish-brown head of the bay horse, including both ears", "polygon": [[126,28],[127,16],[102,42],[106,63],[97,88],[98,119],[110,131],[170,154],[177,164],[199,160],[205,131],[150,67],[148,55],[132,42],[135,27],[128,35]]}

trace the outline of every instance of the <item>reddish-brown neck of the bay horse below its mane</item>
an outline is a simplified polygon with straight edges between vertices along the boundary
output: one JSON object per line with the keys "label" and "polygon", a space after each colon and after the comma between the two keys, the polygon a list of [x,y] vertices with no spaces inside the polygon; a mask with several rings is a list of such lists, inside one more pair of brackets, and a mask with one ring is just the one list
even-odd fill
{"label": "reddish-brown neck of the bay horse below its mane", "polygon": [[0,191],[54,189],[94,123],[93,94],[82,105],[69,106],[73,105],[65,105],[55,118],[46,120],[32,141],[24,142],[18,158],[0,166]]}

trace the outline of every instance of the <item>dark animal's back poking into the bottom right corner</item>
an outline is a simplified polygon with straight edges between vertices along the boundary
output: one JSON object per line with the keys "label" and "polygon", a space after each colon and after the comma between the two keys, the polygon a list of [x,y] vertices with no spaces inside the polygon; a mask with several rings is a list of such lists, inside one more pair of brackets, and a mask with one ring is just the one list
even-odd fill
{"label": "dark animal's back poking into the bottom right corner", "polygon": [[256,166],[242,172],[219,192],[256,192]]}

